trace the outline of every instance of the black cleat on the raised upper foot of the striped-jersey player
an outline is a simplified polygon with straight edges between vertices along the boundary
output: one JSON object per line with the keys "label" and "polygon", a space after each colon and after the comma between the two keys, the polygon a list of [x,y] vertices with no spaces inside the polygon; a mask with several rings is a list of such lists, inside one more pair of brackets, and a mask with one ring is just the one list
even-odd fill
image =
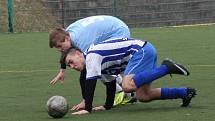
{"label": "black cleat on the raised upper foot of the striped-jersey player", "polygon": [[173,60],[168,58],[162,62],[162,65],[166,65],[168,67],[169,74],[180,74],[185,76],[188,76],[190,74],[184,66],[175,63]]}

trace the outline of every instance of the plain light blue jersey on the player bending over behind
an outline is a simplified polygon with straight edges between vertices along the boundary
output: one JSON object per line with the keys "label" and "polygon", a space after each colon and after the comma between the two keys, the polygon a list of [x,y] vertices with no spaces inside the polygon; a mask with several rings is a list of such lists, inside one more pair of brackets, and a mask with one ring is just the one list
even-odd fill
{"label": "plain light blue jersey on the player bending over behind", "polygon": [[85,52],[91,44],[108,39],[129,38],[128,26],[113,16],[91,16],[80,19],[66,28],[72,44]]}

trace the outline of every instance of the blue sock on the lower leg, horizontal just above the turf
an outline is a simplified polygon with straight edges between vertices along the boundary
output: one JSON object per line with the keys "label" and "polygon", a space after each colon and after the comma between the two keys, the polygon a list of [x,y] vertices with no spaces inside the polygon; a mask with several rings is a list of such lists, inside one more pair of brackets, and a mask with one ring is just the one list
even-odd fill
{"label": "blue sock on the lower leg, horizontal just above the turf", "polygon": [[187,88],[161,88],[160,99],[177,99],[187,96]]}

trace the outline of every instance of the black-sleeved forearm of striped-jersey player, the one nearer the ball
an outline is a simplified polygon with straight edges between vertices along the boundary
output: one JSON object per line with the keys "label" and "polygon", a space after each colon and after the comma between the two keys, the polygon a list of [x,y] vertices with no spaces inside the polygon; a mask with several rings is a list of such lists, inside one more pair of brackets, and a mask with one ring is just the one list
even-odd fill
{"label": "black-sleeved forearm of striped-jersey player, the one nearer the ball", "polygon": [[92,111],[92,103],[97,80],[86,80],[85,110]]}

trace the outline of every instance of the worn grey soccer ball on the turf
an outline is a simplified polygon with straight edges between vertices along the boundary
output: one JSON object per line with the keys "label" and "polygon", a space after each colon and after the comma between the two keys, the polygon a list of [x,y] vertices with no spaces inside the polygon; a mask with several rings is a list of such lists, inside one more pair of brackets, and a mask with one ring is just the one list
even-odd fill
{"label": "worn grey soccer ball on the turf", "polygon": [[49,116],[53,118],[62,118],[69,110],[66,99],[62,96],[52,96],[46,103],[46,109]]}

